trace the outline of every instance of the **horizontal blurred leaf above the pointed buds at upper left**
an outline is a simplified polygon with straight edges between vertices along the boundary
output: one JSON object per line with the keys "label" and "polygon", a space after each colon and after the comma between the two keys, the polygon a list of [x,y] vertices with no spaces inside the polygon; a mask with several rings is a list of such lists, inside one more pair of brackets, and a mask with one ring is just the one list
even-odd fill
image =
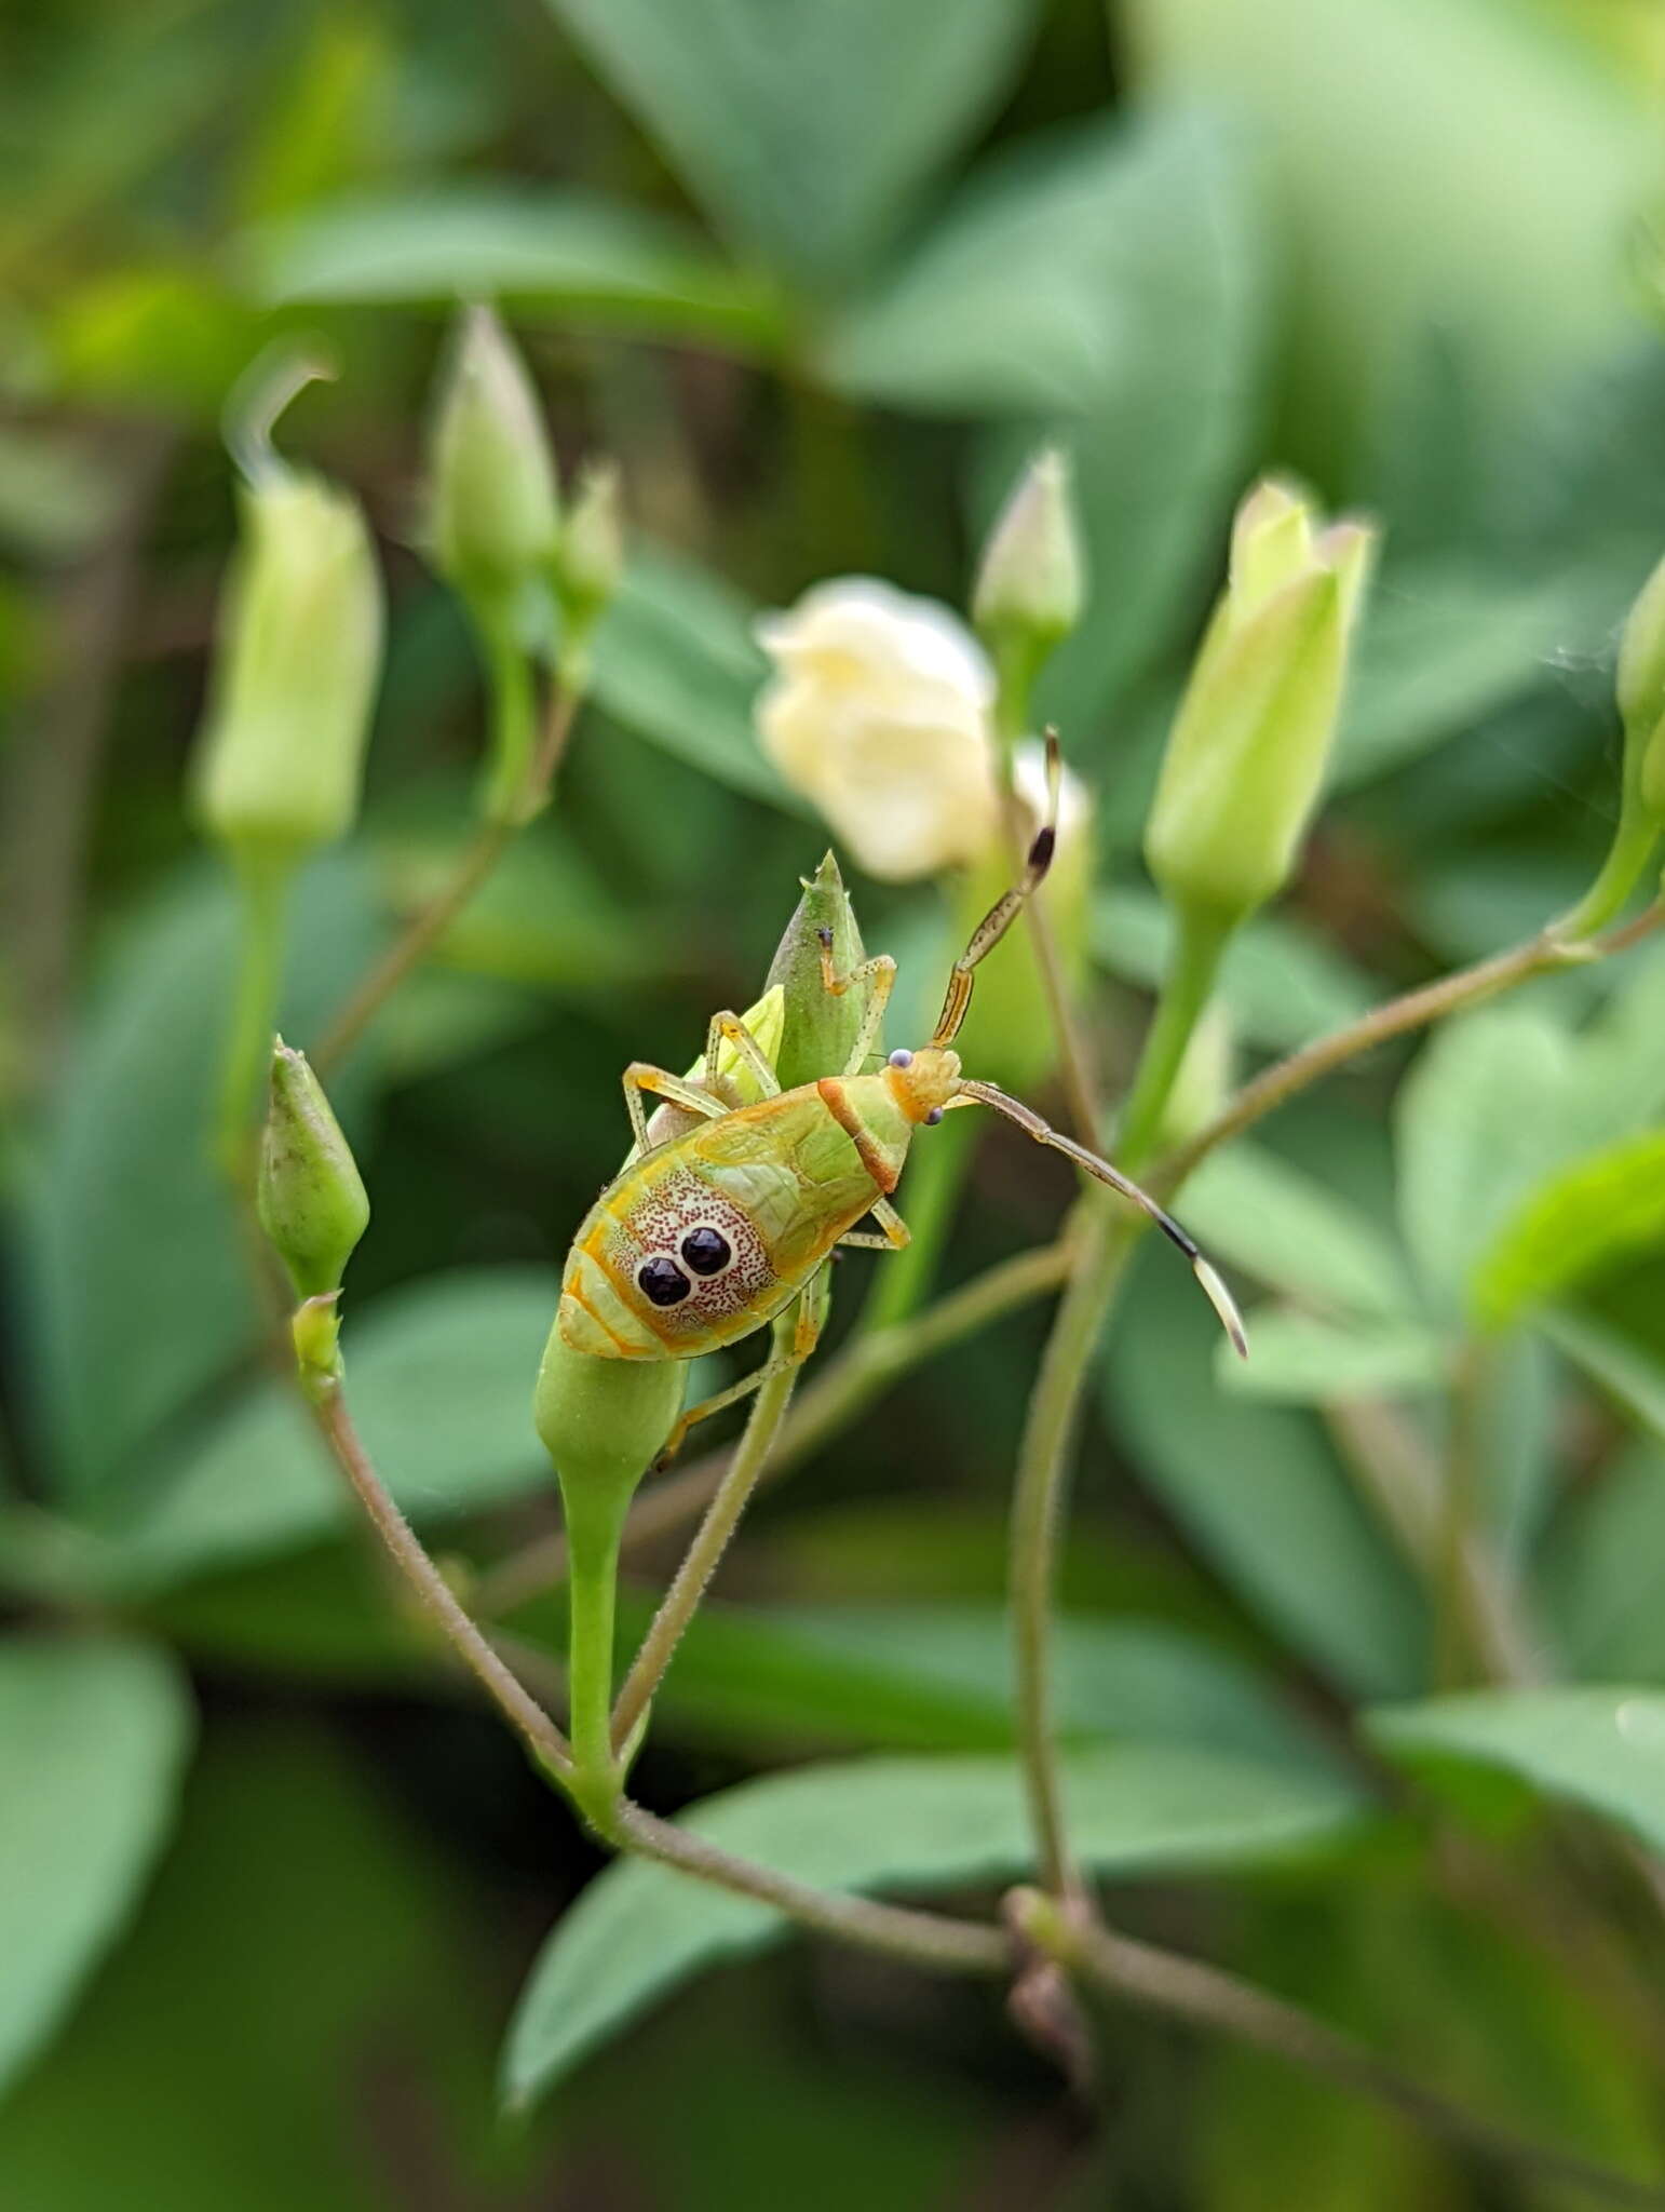
{"label": "horizontal blurred leaf above the pointed buds at upper left", "polygon": [[590,192],[451,184],[356,195],[248,232],[239,274],[265,301],[500,299],[663,338],[778,343],[767,288],[674,221]]}

